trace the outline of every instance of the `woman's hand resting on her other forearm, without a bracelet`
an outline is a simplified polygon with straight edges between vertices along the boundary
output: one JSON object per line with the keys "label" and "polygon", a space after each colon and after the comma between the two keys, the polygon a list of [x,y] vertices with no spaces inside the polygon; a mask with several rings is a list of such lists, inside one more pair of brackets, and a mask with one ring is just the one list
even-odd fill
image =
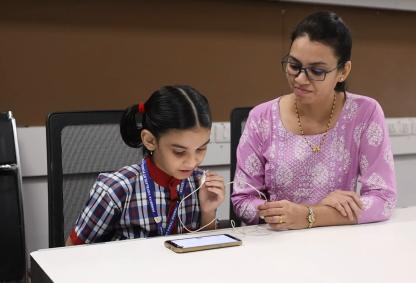
{"label": "woman's hand resting on her other forearm, without a bracelet", "polygon": [[359,195],[352,191],[335,190],[324,198],[320,204],[335,208],[342,216],[348,217],[351,221],[354,218],[358,219],[363,209],[363,203]]}

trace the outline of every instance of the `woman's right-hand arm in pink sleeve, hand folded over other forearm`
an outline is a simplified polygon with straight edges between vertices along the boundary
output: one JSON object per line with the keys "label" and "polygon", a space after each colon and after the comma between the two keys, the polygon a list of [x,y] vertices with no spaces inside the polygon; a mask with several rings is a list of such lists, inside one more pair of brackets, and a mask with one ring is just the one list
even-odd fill
{"label": "woman's right-hand arm in pink sleeve, hand folded over other forearm", "polygon": [[[393,155],[384,114],[377,102],[374,101],[371,106],[368,114],[362,114],[365,121],[356,128],[363,129],[358,141],[360,194],[336,190],[320,202],[320,205],[336,209],[350,222],[354,220],[353,223],[386,220],[396,203]],[[342,222],[342,218],[339,220]],[[324,221],[322,224],[330,223],[333,222]],[[335,221],[335,224],[338,223]]]}

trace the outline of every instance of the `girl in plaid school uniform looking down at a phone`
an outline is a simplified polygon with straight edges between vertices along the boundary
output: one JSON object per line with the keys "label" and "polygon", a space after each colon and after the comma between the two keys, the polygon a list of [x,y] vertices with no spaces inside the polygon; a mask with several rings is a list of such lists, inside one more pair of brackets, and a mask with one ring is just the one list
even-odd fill
{"label": "girl in plaid school uniform looking down at a phone", "polygon": [[[143,148],[144,159],[98,176],[66,244],[182,233],[181,222],[185,230],[214,229],[209,223],[224,200],[224,181],[197,168],[211,124],[207,99],[189,86],[162,87],[128,108],[120,132],[128,146]],[[186,197],[202,176],[200,191]]]}

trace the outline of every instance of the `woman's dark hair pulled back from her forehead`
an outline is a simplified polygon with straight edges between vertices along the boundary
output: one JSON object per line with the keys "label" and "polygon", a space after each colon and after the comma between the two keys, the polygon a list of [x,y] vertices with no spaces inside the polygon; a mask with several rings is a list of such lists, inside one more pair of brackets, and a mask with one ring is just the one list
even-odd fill
{"label": "woman's dark hair pulled back from her forehead", "polygon": [[[321,11],[307,16],[292,32],[291,44],[298,37],[308,35],[311,41],[321,42],[334,50],[338,57],[338,69],[351,59],[351,32],[342,19],[333,12]],[[336,91],[345,91],[346,83],[338,82]]]}

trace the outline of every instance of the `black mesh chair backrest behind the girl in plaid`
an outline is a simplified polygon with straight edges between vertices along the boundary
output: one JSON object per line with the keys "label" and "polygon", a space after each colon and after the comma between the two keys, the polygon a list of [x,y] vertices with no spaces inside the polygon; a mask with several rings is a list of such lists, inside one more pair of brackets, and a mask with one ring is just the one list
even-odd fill
{"label": "black mesh chair backrest behind the girl in plaid", "polygon": [[124,144],[123,111],[60,112],[46,123],[49,247],[65,244],[99,173],[139,162]]}

